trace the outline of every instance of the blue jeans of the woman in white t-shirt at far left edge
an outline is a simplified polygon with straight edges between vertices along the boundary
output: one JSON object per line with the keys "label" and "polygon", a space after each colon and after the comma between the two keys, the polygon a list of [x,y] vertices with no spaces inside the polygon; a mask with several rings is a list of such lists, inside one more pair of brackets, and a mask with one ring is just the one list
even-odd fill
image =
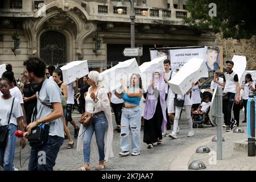
{"label": "blue jeans of the woman in white t-shirt at far left edge", "polygon": [[[5,129],[6,126],[1,126],[0,130]],[[17,130],[17,126],[9,125],[9,134],[7,138],[7,144],[5,148],[0,148],[0,166],[3,167],[5,171],[14,171],[13,162],[15,154],[16,137],[14,135]]]}

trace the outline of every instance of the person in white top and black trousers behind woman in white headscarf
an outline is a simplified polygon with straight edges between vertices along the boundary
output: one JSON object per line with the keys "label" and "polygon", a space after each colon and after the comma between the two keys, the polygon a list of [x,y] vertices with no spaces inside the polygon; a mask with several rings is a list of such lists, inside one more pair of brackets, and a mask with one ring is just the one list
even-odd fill
{"label": "person in white top and black trousers behind woman in white headscarf", "polygon": [[77,93],[78,81],[79,81],[79,78],[77,78],[76,81],[73,81],[70,84],[67,84],[68,100],[67,100],[67,107],[66,107],[67,114],[65,118],[66,118],[66,121],[70,122],[71,125],[73,125],[74,127],[74,138],[77,138],[79,133],[79,127],[76,126],[76,122],[72,118],[72,107],[75,104],[74,93]]}

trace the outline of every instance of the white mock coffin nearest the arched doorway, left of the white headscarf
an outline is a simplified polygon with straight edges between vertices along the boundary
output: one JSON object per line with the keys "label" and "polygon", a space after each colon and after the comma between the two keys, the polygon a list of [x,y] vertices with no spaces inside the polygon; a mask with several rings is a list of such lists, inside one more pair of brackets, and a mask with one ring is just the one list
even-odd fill
{"label": "white mock coffin nearest the arched doorway, left of the white headscarf", "polygon": [[63,74],[65,84],[70,84],[76,78],[84,77],[89,74],[87,60],[72,61],[60,68]]}

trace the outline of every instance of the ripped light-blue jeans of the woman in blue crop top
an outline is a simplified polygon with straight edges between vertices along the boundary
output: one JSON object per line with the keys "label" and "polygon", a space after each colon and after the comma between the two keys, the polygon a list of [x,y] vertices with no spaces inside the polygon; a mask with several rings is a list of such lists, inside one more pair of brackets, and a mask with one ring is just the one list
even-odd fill
{"label": "ripped light-blue jeans of the woman in blue crop top", "polygon": [[141,149],[141,107],[122,109],[121,117],[121,143],[122,151],[130,151],[129,133],[131,131],[131,151],[139,152]]}

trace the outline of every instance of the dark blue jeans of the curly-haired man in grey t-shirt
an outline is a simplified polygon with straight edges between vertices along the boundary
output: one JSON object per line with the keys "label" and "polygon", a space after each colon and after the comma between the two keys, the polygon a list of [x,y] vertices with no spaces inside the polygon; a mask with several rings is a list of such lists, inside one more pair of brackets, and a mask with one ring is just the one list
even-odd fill
{"label": "dark blue jeans of the curly-haired man in grey t-shirt", "polygon": [[53,171],[57,154],[64,142],[64,138],[49,136],[47,143],[31,147],[29,171]]}

